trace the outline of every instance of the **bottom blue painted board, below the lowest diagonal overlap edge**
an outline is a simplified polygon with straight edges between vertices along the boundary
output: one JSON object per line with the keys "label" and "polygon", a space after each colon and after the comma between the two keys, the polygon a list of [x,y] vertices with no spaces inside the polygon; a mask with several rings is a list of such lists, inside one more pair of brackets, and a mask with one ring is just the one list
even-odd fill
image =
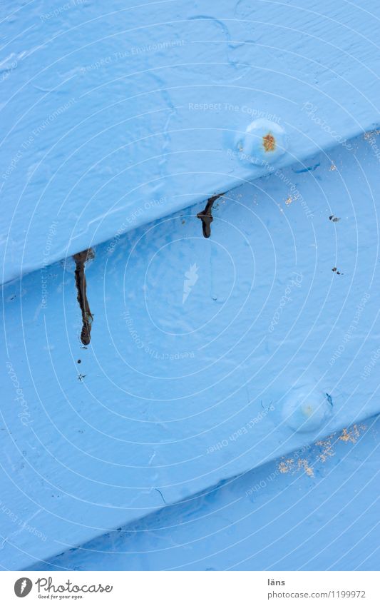
{"label": "bottom blue painted board, below the lowest diagonal overlap edge", "polygon": [[34,570],[379,570],[379,429],[345,428]]}

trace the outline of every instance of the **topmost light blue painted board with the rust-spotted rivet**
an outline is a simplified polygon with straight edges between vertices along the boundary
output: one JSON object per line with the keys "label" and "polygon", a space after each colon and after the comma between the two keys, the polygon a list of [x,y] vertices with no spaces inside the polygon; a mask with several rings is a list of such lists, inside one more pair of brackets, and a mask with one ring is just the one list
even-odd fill
{"label": "topmost light blue painted board with the rust-spotted rivet", "polygon": [[260,176],[240,144],[252,121],[283,129],[277,166],[375,126],[378,13],[377,0],[6,2],[1,281]]}

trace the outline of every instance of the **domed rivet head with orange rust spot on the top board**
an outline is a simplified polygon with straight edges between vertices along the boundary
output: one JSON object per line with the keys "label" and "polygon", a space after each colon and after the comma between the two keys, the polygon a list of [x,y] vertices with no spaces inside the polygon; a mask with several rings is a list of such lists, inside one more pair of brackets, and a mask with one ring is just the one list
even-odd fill
{"label": "domed rivet head with orange rust spot on the top board", "polygon": [[287,150],[287,137],[282,126],[265,118],[247,126],[245,134],[237,140],[240,160],[265,166],[272,164]]}

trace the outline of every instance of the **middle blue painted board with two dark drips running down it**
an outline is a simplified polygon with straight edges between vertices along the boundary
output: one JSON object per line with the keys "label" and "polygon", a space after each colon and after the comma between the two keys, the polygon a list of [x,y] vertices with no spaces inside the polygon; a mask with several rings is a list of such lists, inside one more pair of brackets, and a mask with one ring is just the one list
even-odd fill
{"label": "middle blue painted board with two dark drips running down it", "polygon": [[87,349],[72,260],[4,287],[6,565],[379,412],[378,140],[97,247]]}

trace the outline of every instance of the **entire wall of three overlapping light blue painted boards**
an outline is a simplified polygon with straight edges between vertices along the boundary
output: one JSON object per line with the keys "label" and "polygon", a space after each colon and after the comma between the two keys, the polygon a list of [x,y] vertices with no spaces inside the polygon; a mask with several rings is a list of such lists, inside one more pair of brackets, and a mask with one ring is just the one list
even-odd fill
{"label": "entire wall of three overlapping light blue painted boards", "polygon": [[6,5],[0,565],[375,567],[378,3]]}

